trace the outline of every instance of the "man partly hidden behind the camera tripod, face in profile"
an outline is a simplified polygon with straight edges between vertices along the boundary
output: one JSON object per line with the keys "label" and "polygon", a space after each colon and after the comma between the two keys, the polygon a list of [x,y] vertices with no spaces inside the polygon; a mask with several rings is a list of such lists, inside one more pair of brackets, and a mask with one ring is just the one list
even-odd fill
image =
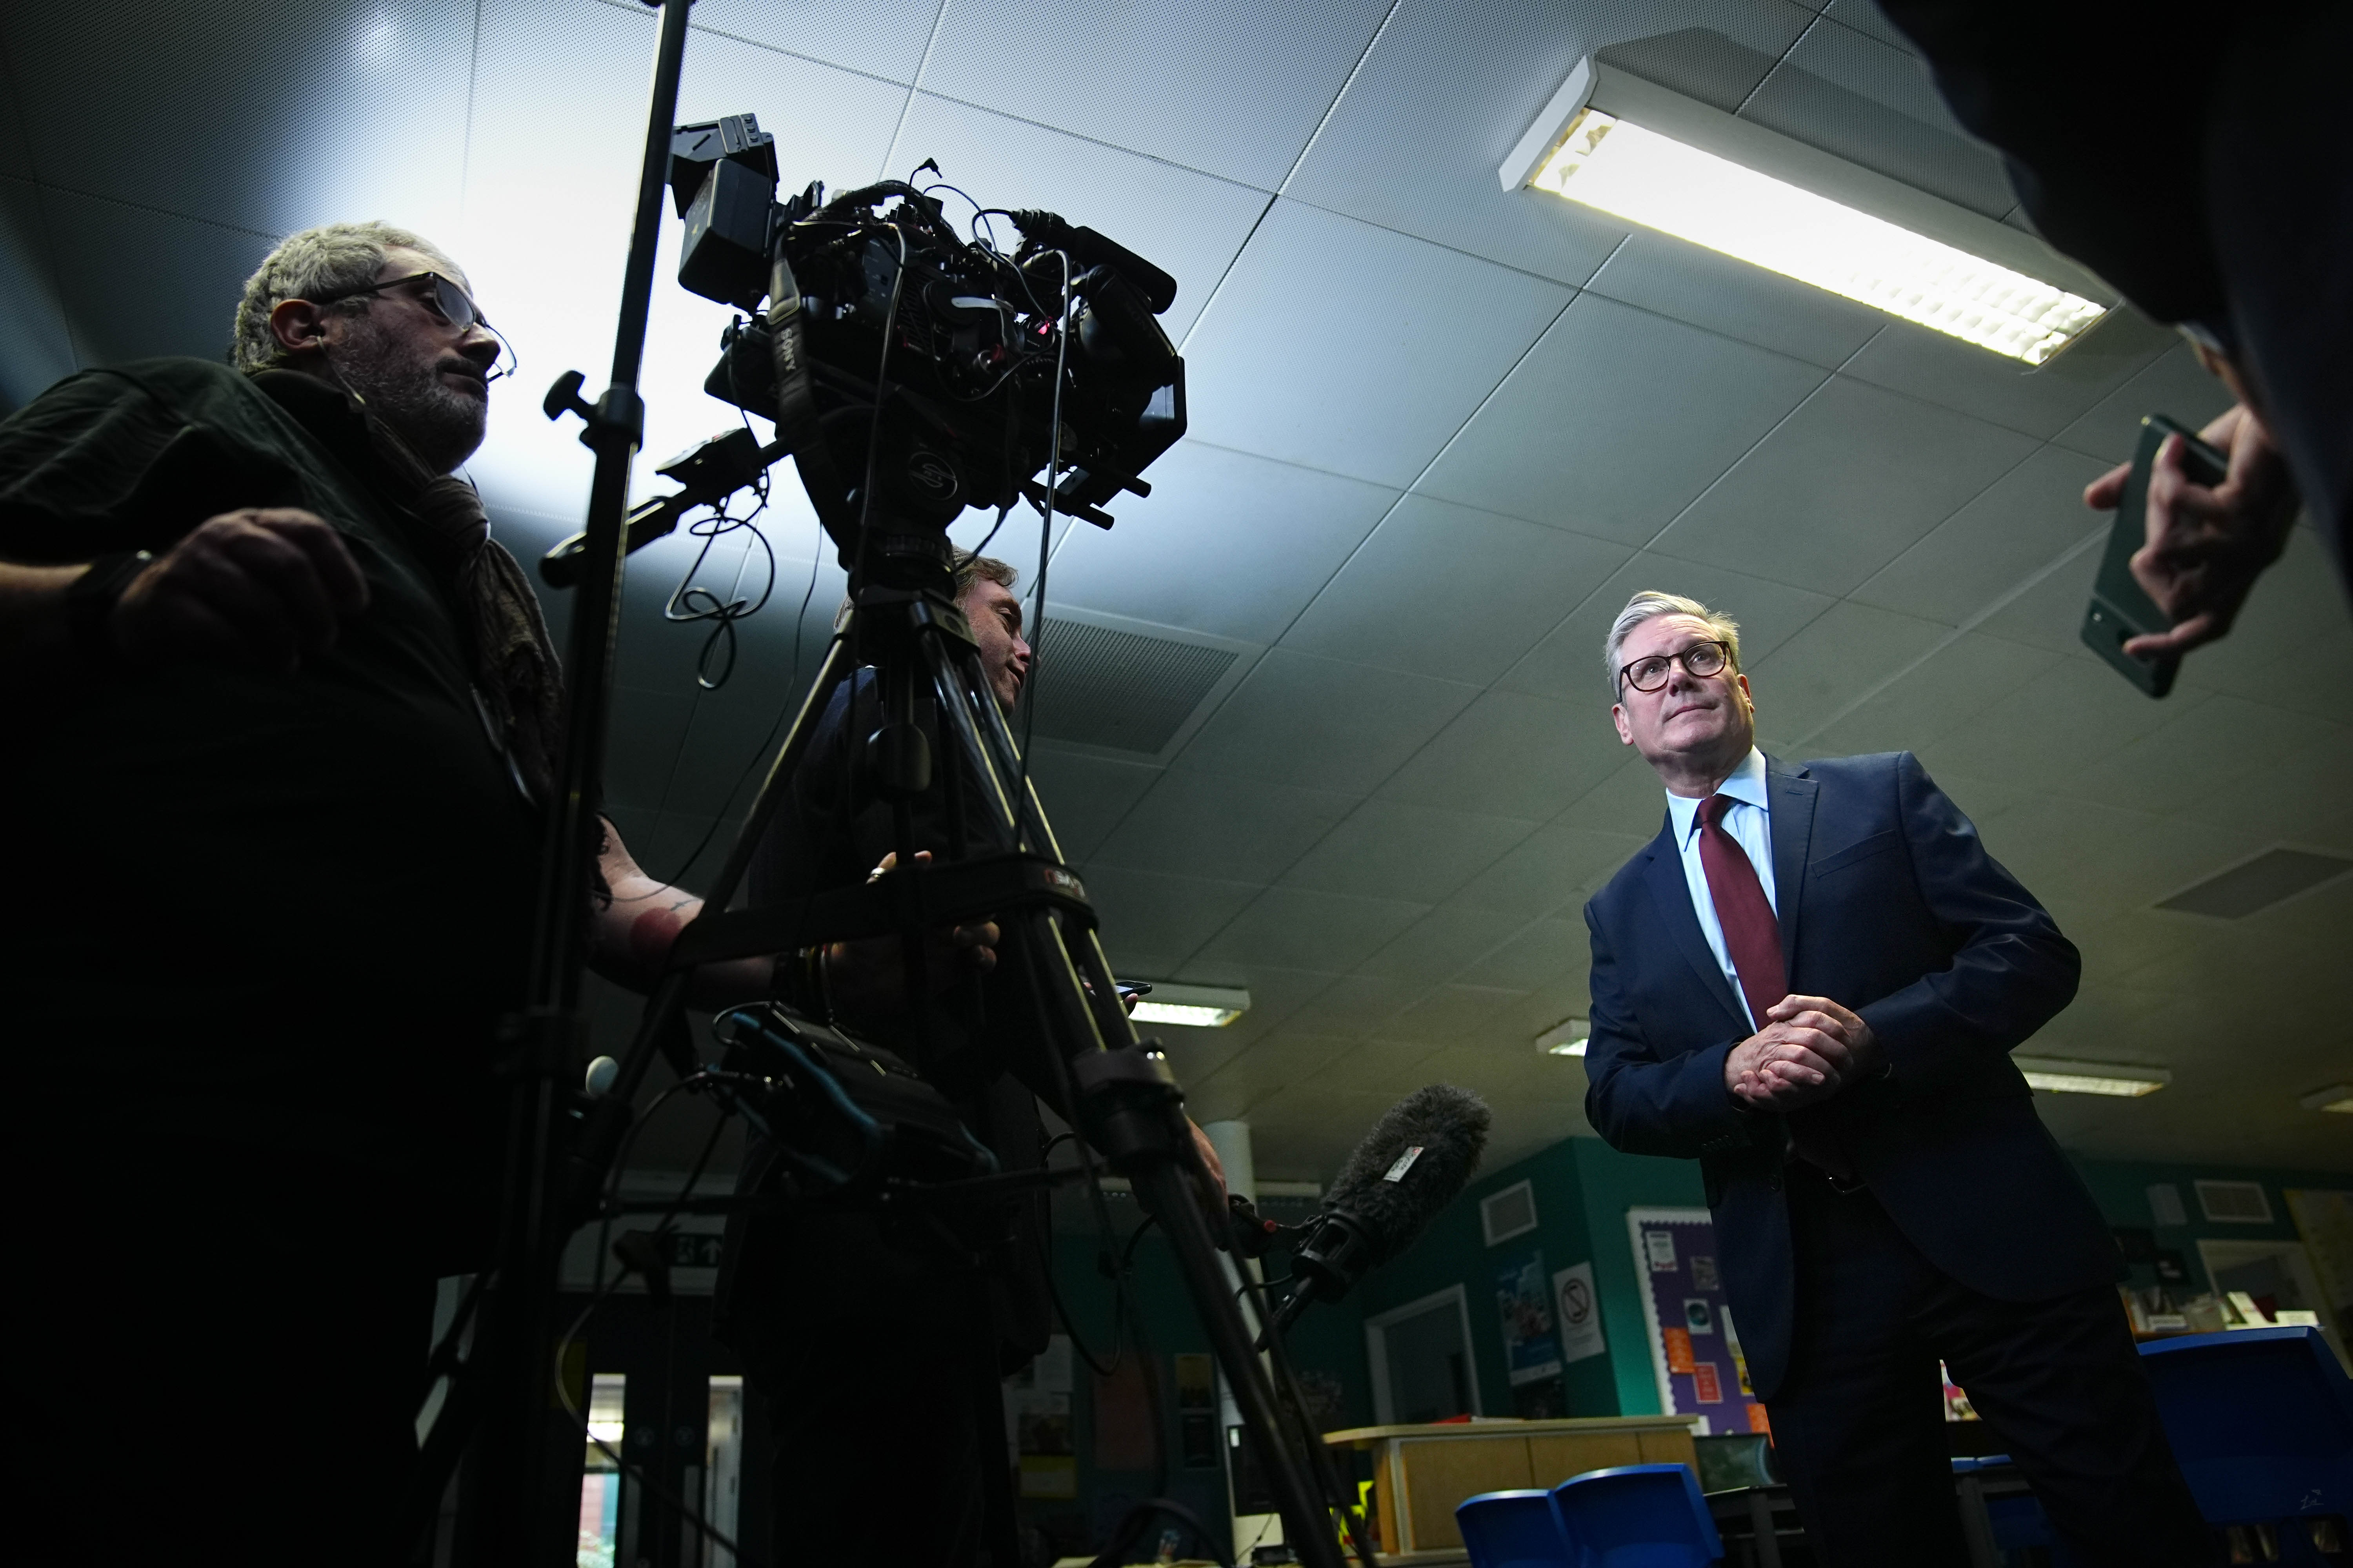
{"label": "man partly hidden behind the camera tripod, face in profile", "polygon": [[[1033,670],[1021,637],[1016,571],[958,552],[955,592],[981,668],[1007,712]],[[845,682],[793,776],[753,860],[753,905],[864,882],[896,870],[892,806],[859,766],[880,724],[880,682]],[[960,766],[941,745],[934,757]],[[967,773],[965,835],[986,844],[979,780]],[[948,851],[941,790],[915,804],[920,856]],[[1035,990],[1019,940],[993,922],[932,933],[932,997],[918,1020],[906,999],[899,938],[835,943],[776,961],[779,999],[899,1051],[958,1107],[1007,1171],[1038,1168],[1038,1100],[1059,1105],[1045,1041],[1031,1037]],[[1200,1128],[1193,1147],[1212,1180],[1217,1157]],[[746,1159],[744,1192],[767,1161]],[[1202,1194],[1205,1199],[1209,1194]],[[1224,1194],[1217,1194],[1221,1211]],[[774,1516],[807,1561],[878,1568],[955,1568],[1002,1554],[1012,1519],[1000,1380],[1045,1349],[1049,1333],[1047,1201],[1014,1199],[979,1215],[979,1232],[932,1246],[936,1227],[866,1215],[765,1211],[729,1222],[718,1331],[774,1410]],[[993,1476],[991,1476],[993,1472]]]}

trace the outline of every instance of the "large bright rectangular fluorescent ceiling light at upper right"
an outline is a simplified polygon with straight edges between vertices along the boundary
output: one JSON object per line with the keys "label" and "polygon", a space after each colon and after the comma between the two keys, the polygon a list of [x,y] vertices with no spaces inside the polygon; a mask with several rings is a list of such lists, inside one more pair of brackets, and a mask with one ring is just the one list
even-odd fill
{"label": "large bright rectangular fluorescent ceiling light at upper right", "polygon": [[2028,233],[1591,59],[1497,176],[2026,364],[2113,296]]}

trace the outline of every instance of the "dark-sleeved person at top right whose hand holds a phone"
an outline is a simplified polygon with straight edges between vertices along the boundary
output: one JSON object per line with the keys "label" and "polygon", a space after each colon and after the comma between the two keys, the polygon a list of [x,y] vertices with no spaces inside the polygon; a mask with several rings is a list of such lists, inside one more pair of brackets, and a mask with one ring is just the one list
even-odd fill
{"label": "dark-sleeved person at top right whose hand holds a phone", "polygon": [[[2009,160],[2035,230],[2179,322],[2238,404],[2228,454],[2188,480],[2179,437],[2148,484],[2132,574],[2174,621],[2127,654],[2228,635],[2297,505],[2353,585],[2353,136],[2339,113],[2353,12],[2322,0],[1880,0],[1953,115]],[[2033,35],[2038,47],[2019,52]],[[2052,75],[2045,61],[2075,61]],[[2113,510],[2127,468],[2085,489]]]}

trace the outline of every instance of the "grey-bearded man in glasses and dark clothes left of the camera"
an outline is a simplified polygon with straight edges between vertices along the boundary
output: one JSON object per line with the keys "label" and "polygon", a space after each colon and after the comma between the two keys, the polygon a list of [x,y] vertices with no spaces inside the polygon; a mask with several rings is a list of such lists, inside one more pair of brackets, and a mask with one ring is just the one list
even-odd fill
{"label": "grey-bearded man in glasses and dark clothes left of the camera", "polygon": [[[332,223],[247,282],[233,364],[0,421],[26,1561],[405,1556],[560,752],[539,604],[452,473],[496,355],[449,256]],[[595,914],[609,971],[645,882]]]}

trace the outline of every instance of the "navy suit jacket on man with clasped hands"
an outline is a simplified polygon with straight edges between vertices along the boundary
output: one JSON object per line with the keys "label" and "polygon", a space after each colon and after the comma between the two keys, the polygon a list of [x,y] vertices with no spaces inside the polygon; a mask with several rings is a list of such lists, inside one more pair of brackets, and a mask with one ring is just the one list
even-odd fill
{"label": "navy suit jacket on man with clasped hands", "polygon": [[1791,1121],[1840,1147],[1911,1244],[1974,1291],[2042,1300],[2113,1281],[2120,1260],[2009,1060],[2075,997],[2075,945],[1911,752],[1767,757],[1765,780],[1788,990],[1861,1013],[1887,1077],[1791,1117],[1725,1091],[1748,1023],[1692,912],[1671,816],[1586,905],[1586,1119],[1628,1154],[1699,1159],[1748,1378],[1772,1399],[1795,1314]]}

